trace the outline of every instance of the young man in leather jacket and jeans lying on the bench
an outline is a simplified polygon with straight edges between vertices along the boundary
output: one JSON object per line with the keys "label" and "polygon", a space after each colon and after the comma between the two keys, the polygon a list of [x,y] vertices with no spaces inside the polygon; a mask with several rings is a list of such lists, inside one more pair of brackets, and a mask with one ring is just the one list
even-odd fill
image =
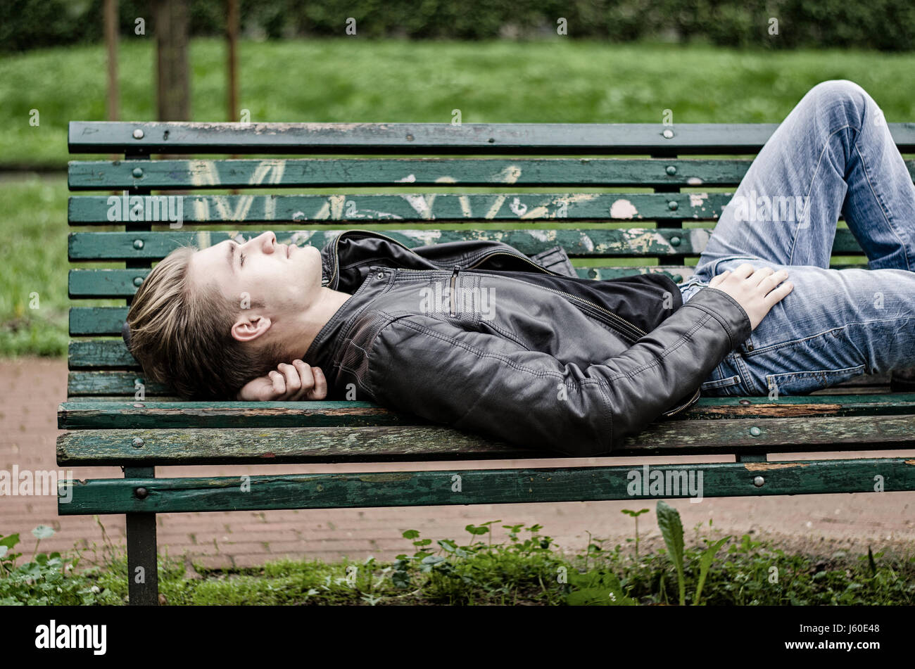
{"label": "young man in leather jacket and jeans lying on the bench", "polygon": [[[851,81],[814,86],[680,284],[580,279],[560,248],[411,250],[349,230],[318,250],[265,232],[170,253],[125,339],[183,398],[370,400],[581,456],[700,394],[797,395],[915,366],[915,186],[882,118]],[[786,200],[802,203],[791,220],[759,206]],[[867,270],[829,269],[840,215]]]}

